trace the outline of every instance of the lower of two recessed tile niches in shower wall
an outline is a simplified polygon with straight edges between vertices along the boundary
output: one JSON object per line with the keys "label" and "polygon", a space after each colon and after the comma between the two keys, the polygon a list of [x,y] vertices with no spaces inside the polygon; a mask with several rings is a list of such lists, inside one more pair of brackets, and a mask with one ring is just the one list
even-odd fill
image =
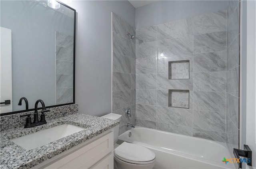
{"label": "lower of two recessed tile niches in shower wall", "polygon": [[169,89],[169,107],[189,109],[189,90]]}

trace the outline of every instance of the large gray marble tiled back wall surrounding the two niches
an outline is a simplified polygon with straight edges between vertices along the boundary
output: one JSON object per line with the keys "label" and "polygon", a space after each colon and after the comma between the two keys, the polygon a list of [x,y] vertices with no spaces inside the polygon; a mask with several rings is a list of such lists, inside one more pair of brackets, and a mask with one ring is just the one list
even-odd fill
{"label": "large gray marble tiled back wall surrounding the two niches", "polygon": [[[226,10],[136,30],[136,125],[226,141],[226,31]],[[169,80],[179,60],[190,77]],[[168,89],[189,90],[189,109],[168,107]]]}

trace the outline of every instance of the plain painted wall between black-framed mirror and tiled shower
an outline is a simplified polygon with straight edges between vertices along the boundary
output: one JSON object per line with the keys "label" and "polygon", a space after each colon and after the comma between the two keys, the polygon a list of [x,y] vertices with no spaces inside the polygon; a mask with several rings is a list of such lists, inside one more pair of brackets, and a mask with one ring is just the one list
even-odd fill
{"label": "plain painted wall between black-framed mirror and tiled shower", "polygon": [[135,26],[135,8],[128,1],[72,1],[77,12],[75,102],[79,112],[111,112],[111,12]]}

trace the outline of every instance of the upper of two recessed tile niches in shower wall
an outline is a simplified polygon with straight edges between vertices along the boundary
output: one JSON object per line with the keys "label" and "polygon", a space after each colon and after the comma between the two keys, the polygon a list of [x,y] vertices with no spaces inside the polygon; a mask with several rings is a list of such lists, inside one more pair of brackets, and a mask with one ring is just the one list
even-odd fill
{"label": "upper of two recessed tile niches in shower wall", "polygon": [[168,62],[169,79],[189,79],[189,60]]}

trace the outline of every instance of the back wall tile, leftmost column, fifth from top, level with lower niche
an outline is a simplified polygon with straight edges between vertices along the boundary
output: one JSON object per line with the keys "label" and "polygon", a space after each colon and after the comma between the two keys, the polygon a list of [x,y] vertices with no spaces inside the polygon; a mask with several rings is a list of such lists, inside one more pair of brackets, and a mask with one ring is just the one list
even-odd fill
{"label": "back wall tile, leftmost column, fifth from top, level with lower niche", "polygon": [[156,105],[156,90],[136,89],[136,103]]}

